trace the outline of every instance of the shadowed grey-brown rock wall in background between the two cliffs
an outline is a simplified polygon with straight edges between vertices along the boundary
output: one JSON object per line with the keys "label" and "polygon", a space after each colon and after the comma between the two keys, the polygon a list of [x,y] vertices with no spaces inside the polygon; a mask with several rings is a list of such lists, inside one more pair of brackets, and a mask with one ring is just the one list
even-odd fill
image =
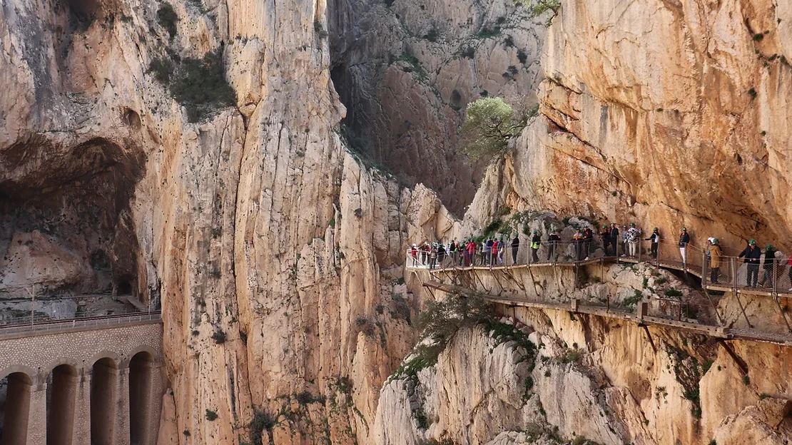
{"label": "shadowed grey-brown rock wall in background between the two cliffs", "polygon": [[459,153],[462,110],[487,95],[535,104],[543,19],[501,0],[336,0],[328,27],[352,146],[462,215],[482,170]]}

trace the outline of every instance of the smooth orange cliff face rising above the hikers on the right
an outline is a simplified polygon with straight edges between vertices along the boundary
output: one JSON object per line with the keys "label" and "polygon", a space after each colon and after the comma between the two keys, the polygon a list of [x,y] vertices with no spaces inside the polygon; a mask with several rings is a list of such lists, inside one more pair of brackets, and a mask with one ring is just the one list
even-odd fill
{"label": "smooth orange cliff face rising above the hikers on the right", "polygon": [[[792,248],[792,10],[786,3],[562,2],[548,31],[542,118],[472,207],[694,228]],[[502,186],[501,186],[502,185]]]}

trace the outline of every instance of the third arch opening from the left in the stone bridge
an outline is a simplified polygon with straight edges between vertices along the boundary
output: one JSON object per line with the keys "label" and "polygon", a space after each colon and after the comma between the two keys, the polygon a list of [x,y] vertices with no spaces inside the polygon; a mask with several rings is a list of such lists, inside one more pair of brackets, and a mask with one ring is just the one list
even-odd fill
{"label": "third arch opening from the left in the stone bridge", "polygon": [[93,362],[90,389],[90,443],[112,443],[116,424],[118,380],[117,359],[101,357]]}

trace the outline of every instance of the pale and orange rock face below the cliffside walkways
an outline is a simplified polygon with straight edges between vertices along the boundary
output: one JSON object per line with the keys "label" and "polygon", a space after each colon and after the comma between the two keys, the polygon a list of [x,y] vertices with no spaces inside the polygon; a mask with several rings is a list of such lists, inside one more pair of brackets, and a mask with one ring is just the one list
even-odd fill
{"label": "pale and orange rock face below the cliffside walkways", "polygon": [[[528,291],[531,299],[612,295],[611,307],[629,306],[634,293],[654,299],[662,287],[685,289],[653,268],[618,265],[600,273],[604,280],[576,287],[574,277],[550,269],[516,270],[512,280],[481,272],[478,284],[466,287],[524,295],[533,283],[544,289],[535,296]],[[734,306],[728,297],[718,302],[726,314]],[[383,387],[378,443],[672,445],[792,438],[789,348],[729,341],[748,366],[744,375],[722,345],[703,336],[655,326],[645,331],[632,322],[564,310],[497,309],[505,317],[460,329],[436,364],[413,362],[426,352],[408,356],[401,369],[409,371],[400,369]],[[767,329],[775,321],[763,315],[754,320],[764,320]]]}

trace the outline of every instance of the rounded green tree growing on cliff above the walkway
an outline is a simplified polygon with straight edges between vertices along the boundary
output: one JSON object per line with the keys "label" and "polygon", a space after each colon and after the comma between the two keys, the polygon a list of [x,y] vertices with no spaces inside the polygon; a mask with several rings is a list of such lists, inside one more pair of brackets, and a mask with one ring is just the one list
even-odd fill
{"label": "rounded green tree growing on cliff above the walkway", "polygon": [[471,161],[504,154],[526,123],[526,114],[515,113],[501,97],[470,102],[462,124],[462,150]]}

